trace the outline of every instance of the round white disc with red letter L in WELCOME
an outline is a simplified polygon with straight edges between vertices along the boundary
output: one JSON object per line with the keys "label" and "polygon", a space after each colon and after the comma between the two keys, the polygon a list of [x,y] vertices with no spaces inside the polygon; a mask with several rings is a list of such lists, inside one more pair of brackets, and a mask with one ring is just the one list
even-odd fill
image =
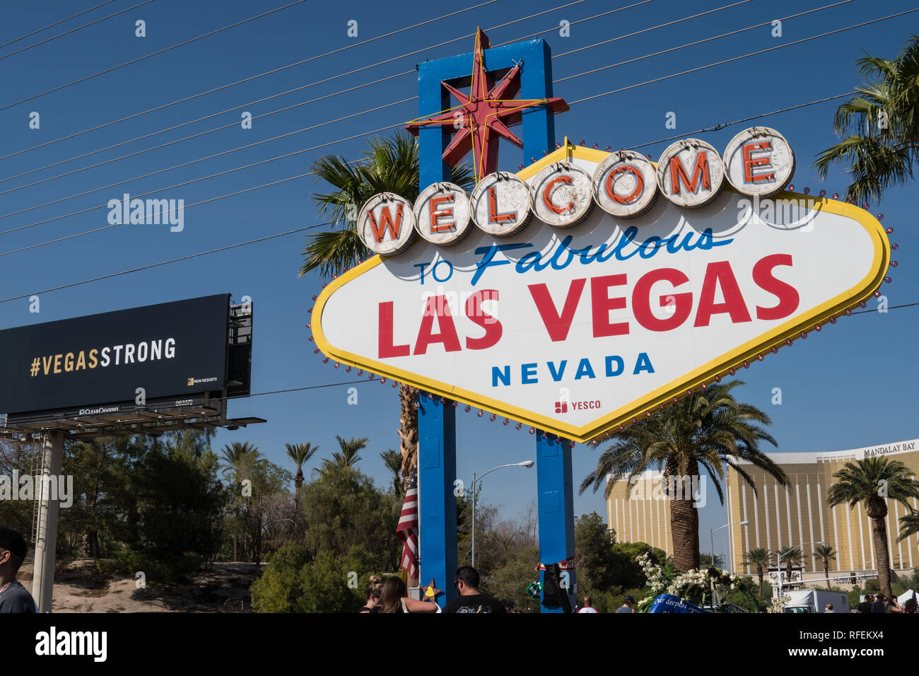
{"label": "round white disc with red letter L in WELCOME", "polygon": [[533,216],[529,186],[506,171],[482,178],[472,190],[470,201],[475,224],[495,237],[516,235]]}

